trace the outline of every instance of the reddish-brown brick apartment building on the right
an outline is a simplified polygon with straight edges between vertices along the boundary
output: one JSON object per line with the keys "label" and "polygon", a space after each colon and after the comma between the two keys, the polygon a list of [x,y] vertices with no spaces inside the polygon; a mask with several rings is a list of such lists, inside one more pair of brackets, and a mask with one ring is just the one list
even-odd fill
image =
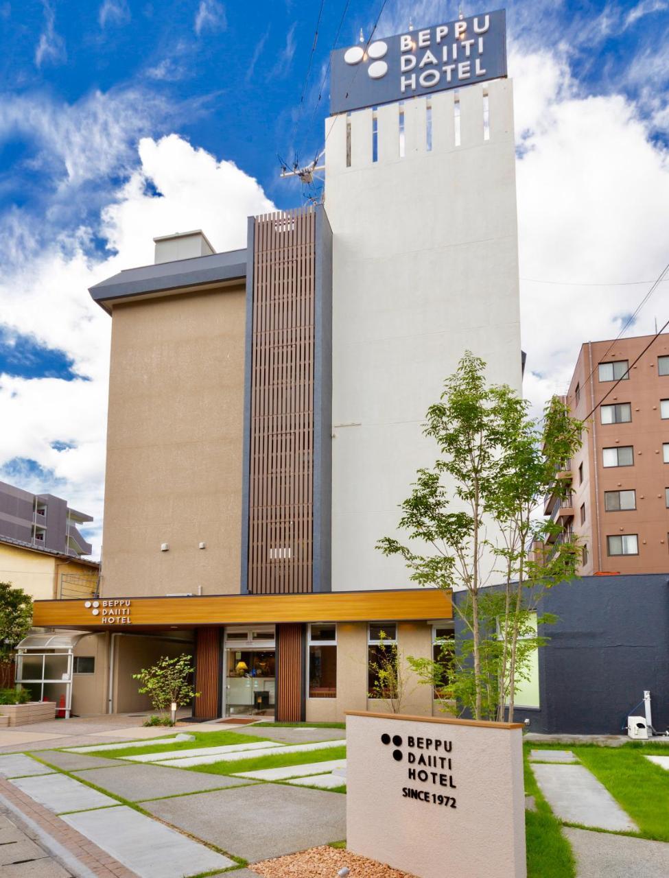
{"label": "reddish-brown brick apartment building on the right", "polygon": [[575,417],[597,408],[559,473],[572,493],[544,512],[579,536],[582,574],[669,569],[669,335],[632,364],[652,337],[586,342],[569,385]]}

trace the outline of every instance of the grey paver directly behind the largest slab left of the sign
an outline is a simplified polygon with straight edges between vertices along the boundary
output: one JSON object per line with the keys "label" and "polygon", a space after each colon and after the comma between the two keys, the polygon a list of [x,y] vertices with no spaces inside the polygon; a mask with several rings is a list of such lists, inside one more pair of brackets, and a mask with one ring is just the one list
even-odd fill
{"label": "grey paver directly behind the largest slab left of the sign", "polygon": [[[85,780],[91,776],[86,772],[82,773]],[[229,777],[225,774],[196,774],[192,771],[175,771],[173,768],[162,766],[129,766],[118,763],[113,768],[98,768],[93,780],[96,787],[107,789],[129,802],[156,799],[162,795],[182,795],[202,792],[205,789],[236,787],[248,783],[244,778]]]}

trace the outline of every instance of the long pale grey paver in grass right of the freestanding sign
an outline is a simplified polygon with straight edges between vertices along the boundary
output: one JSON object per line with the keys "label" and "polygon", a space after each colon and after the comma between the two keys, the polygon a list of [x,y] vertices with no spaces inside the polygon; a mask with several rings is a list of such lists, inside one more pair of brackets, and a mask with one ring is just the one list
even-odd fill
{"label": "long pale grey paver in grass right of the freestanding sign", "polygon": [[614,832],[638,831],[608,789],[585,766],[535,763],[532,771],[559,820]]}

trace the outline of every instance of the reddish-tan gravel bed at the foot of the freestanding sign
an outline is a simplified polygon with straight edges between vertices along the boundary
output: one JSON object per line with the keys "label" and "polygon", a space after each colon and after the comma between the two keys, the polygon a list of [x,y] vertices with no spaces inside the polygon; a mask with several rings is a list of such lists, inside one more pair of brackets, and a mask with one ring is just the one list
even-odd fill
{"label": "reddish-tan gravel bed at the foot of the freestanding sign", "polygon": [[349,878],[414,878],[408,872],[399,872],[379,863],[368,860],[356,853],[324,845],[312,847],[308,851],[291,853],[276,860],[263,860],[251,867],[263,878],[336,878],[344,866],[350,869]]}

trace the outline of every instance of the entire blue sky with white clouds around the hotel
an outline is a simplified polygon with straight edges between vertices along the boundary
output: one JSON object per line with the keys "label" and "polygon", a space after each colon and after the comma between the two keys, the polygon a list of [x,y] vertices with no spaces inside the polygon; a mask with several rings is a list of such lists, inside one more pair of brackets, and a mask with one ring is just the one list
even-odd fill
{"label": "entire blue sky with white clouds around the hotel", "polygon": [[[335,35],[368,36],[382,3],[324,0],[312,58],[320,0],[0,0],[0,479],[57,486],[99,537],[109,320],[87,287],[149,262],[155,234],[243,246],[247,213],[301,204],[277,155],[320,150]],[[457,4],[388,0],[378,35],[409,15]],[[669,5],[510,2],[507,24],[540,406],[669,262]],[[666,291],[631,332],[669,317]]]}

